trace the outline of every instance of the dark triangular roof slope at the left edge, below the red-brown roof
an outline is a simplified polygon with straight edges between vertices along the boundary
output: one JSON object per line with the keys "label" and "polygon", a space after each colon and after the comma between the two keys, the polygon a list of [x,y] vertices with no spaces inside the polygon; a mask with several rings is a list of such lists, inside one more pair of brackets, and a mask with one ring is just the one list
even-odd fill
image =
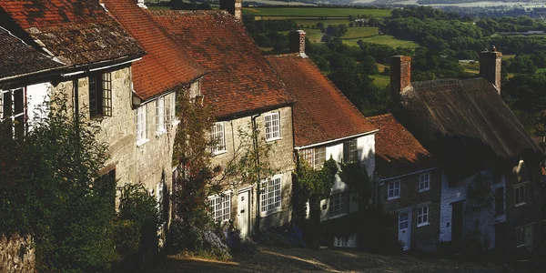
{"label": "dark triangular roof slope at the left edge, below the red-brown roof", "polygon": [[0,80],[62,67],[0,27]]}

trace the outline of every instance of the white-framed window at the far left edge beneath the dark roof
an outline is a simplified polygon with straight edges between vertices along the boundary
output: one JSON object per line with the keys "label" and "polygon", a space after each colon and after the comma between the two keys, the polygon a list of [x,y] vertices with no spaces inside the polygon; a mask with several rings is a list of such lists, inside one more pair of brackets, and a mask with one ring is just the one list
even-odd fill
{"label": "white-framed window at the far left edge beneath the dark roof", "polygon": [[25,135],[25,88],[0,90],[0,120],[12,124],[14,136]]}

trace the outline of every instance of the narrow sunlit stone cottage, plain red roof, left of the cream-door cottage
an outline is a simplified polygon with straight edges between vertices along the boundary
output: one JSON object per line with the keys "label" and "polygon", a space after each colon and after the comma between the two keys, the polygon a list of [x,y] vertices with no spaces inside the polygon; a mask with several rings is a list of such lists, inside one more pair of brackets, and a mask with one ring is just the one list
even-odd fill
{"label": "narrow sunlit stone cottage, plain red roof, left of the cream-door cottage", "polygon": [[[177,132],[177,99],[199,94],[205,68],[180,50],[147,10],[143,1],[104,0],[116,18],[147,55],[132,66],[131,146],[135,153],[135,180],[146,185],[157,201],[172,192],[173,147]],[[165,192],[164,192],[165,191]],[[167,192],[168,191],[168,192]],[[167,202],[163,204],[167,207]],[[164,216],[167,211],[165,211]]]}

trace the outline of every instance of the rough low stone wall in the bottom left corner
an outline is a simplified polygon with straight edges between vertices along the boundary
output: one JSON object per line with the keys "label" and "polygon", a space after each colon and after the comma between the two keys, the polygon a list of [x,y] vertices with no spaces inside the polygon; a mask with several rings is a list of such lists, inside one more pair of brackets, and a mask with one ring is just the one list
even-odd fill
{"label": "rough low stone wall in the bottom left corner", "polygon": [[0,238],[0,272],[36,272],[35,249],[30,238]]}

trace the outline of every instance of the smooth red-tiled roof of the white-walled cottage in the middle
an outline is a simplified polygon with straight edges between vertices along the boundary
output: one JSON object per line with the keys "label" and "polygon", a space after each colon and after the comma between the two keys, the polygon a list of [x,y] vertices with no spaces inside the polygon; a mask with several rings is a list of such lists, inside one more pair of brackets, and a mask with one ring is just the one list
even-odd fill
{"label": "smooth red-tiled roof of the white-walled cottage in the middle", "polygon": [[309,58],[288,54],[268,56],[268,62],[297,101],[293,106],[296,147],[376,129]]}

